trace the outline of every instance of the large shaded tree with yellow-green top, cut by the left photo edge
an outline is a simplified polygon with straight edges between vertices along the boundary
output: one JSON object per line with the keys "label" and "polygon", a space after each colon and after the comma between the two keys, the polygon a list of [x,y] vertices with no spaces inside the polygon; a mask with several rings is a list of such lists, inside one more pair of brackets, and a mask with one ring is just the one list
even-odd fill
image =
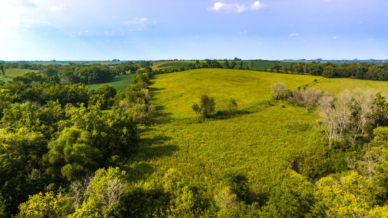
{"label": "large shaded tree with yellow-green top, cut by the left photo edge", "polygon": [[47,152],[42,133],[19,128],[15,133],[0,129],[0,190],[12,214],[30,194],[43,189],[42,156]]}

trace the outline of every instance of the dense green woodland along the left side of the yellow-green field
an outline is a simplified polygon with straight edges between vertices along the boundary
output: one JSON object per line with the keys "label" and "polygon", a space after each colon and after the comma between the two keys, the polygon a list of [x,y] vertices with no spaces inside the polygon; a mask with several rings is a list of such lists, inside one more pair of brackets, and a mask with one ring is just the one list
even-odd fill
{"label": "dense green woodland along the left side of the yellow-green field", "polygon": [[[82,83],[58,83],[63,75],[67,75],[65,72],[92,70],[102,75],[110,72],[104,69],[107,68],[48,66],[42,69],[42,73],[26,73],[7,83],[0,83],[1,216],[16,215],[19,209],[19,217],[51,217],[51,213],[65,211],[69,209],[69,201],[67,198],[66,201],[59,199],[60,195],[56,193],[71,193],[69,185],[72,182],[81,181],[99,168],[105,167],[107,171],[99,170],[100,173],[94,175],[93,181],[100,181],[94,185],[96,189],[105,183],[109,183],[108,186],[120,183],[119,178],[123,175],[114,166],[130,157],[138,138],[137,124],[147,122],[153,113],[147,90],[150,72],[137,70],[133,83],[124,92],[118,93],[109,85],[88,92],[88,87]],[[61,76],[47,73],[50,70],[58,71]],[[97,178],[97,175],[100,177]],[[79,191],[80,187],[73,188]],[[116,195],[115,187],[112,188],[113,195]],[[46,194],[34,196],[18,209],[29,195],[39,192]],[[70,202],[74,204],[74,209],[82,203],[79,200]],[[116,202],[111,200],[107,202],[106,209]],[[46,208],[40,201],[47,201]],[[59,201],[55,204],[60,208],[55,208],[52,205],[54,202],[49,201]],[[42,216],[34,214],[27,206],[29,204],[47,211],[42,212]],[[23,209],[23,205],[27,207]],[[56,214],[54,217],[62,216]]]}

